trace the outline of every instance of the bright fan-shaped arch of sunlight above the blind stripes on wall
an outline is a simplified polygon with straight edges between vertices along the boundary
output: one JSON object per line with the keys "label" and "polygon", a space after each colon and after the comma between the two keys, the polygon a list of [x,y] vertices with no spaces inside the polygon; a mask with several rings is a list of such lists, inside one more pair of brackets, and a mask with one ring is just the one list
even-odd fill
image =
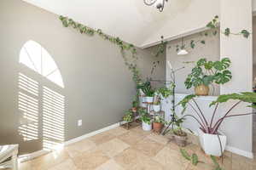
{"label": "bright fan-shaped arch of sunlight above the blind stripes on wall", "polygon": [[64,88],[61,72],[54,59],[38,42],[28,41],[24,44],[20,51],[20,63]]}

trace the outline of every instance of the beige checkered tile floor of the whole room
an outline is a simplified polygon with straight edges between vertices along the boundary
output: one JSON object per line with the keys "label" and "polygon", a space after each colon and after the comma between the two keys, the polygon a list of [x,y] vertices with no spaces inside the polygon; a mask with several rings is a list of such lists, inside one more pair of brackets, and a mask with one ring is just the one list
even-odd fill
{"label": "beige checkered tile floor of the whole room", "polygon": [[[201,161],[196,167],[186,161],[170,136],[144,132],[141,127],[125,130],[117,127],[68,145],[32,161],[20,164],[20,170],[212,170],[209,156],[196,144],[186,150]],[[196,143],[195,137],[189,141]],[[220,160],[218,159],[220,162]],[[255,170],[256,161],[225,152],[225,170]]]}

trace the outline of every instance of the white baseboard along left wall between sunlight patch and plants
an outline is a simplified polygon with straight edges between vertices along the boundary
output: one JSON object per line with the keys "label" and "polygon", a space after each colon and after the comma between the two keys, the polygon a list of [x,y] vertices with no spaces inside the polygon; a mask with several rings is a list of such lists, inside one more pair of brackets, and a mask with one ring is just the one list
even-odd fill
{"label": "white baseboard along left wall between sunlight patch and plants", "polygon": [[120,124],[120,123],[118,122],[118,123],[115,123],[115,124],[110,125],[110,126],[108,126],[108,127],[104,127],[104,128],[102,128],[102,129],[96,130],[96,131],[94,131],[94,132],[84,134],[83,136],[79,136],[78,138],[71,139],[71,140],[67,140],[67,141],[64,143],[64,145],[73,144],[73,143],[79,142],[80,140],[87,139],[87,138],[89,138],[89,137],[91,137],[91,136],[94,136],[94,135],[96,135],[96,134],[98,134],[98,133],[106,132],[106,131],[108,131],[108,130],[110,130],[110,129],[113,129],[113,128],[115,128],[115,127],[119,127],[119,124]]}

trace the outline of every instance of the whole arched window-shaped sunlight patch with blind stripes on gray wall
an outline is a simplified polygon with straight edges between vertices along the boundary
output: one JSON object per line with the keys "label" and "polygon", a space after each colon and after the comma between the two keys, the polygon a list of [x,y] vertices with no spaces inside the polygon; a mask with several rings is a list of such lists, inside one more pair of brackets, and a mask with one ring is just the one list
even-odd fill
{"label": "whole arched window-shaped sunlight patch with blind stripes on gray wall", "polygon": [[49,53],[34,41],[26,42],[21,48],[19,62],[19,132],[27,144],[42,139],[44,150],[55,150],[64,142],[65,97],[61,72]]}

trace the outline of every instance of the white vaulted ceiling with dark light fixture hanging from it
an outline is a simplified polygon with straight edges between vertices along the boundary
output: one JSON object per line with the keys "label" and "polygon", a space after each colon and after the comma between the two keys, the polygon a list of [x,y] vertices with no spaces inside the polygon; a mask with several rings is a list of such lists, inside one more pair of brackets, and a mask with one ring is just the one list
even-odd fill
{"label": "white vaulted ceiling with dark light fixture hanging from it", "polygon": [[52,13],[145,48],[204,28],[219,13],[219,0],[169,0],[160,13],[143,0],[24,0]]}

